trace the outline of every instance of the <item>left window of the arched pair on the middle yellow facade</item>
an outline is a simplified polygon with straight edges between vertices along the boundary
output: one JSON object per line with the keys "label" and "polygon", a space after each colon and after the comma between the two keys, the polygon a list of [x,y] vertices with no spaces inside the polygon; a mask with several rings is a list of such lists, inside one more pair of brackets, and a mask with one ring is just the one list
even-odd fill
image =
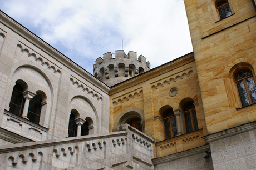
{"label": "left window of the arched pair on the middle yellow facade", "polygon": [[173,138],[177,135],[176,117],[173,108],[169,108],[164,112],[164,130],[165,139]]}

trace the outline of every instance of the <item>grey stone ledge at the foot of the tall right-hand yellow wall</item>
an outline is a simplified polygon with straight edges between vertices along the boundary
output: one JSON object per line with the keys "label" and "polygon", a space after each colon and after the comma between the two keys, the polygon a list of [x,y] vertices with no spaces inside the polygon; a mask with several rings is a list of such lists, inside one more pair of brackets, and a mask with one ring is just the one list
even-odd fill
{"label": "grey stone ledge at the foot of the tall right-hand yellow wall", "polygon": [[235,134],[240,134],[240,133],[252,131],[253,129],[256,129],[256,121],[251,122],[251,123],[247,123],[247,124],[243,124],[243,125],[238,126],[238,127],[230,128],[230,129],[225,130],[225,131],[209,134],[209,135],[204,136],[202,138],[206,142],[209,143],[209,142],[217,141],[219,139],[234,136]]}

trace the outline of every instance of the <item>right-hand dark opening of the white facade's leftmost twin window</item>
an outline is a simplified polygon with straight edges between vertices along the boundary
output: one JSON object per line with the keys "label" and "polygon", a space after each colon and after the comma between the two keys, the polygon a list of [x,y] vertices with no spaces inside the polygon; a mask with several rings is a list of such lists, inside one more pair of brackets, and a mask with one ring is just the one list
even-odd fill
{"label": "right-hand dark opening of the white facade's leftmost twin window", "polygon": [[42,97],[40,96],[40,94],[37,94],[29,102],[28,115],[27,115],[29,121],[39,124],[41,108],[42,108]]}

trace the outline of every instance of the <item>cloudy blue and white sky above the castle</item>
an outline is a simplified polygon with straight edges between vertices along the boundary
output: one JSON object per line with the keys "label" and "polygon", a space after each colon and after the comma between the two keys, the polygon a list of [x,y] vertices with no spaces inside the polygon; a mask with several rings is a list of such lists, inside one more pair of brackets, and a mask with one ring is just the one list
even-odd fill
{"label": "cloudy blue and white sky above the castle", "polygon": [[90,73],[122,39],[151,68],[193,51],[183,0],[2,0],[0,9]]}

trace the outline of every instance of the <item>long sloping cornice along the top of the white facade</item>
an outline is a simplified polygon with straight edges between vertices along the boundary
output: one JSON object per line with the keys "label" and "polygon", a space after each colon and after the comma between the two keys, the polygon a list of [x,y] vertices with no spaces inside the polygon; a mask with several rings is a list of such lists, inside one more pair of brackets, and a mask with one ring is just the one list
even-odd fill
{"label": "long sloping cornice along the top of the white facade", "polygon": [[3,13],[2,11],[0,11],[0,19],[0,23],[4,24],[4,26],[8,27],[9,29],[12,29],[12,31],[19,34],[19,36],[23,37],[37,48],[40,48],[43,52],[56,59],[56,61],[60,62],[67,68],[72,68],[72,70],[76,71],[79,76],[92,84],[95,84],[95,86],[99,87],[105,93],[109,92],[110,88],[106,84],[100,82],[97,78],[92,76],[92,74],[73,62],[70,58],[57,51],[57,49],[53,48],[50,44],[43,41],[41,38],[33,34],[27,28],[23,27],[17,21],[14,21],[14,19],[7,16],[7,14]]}

